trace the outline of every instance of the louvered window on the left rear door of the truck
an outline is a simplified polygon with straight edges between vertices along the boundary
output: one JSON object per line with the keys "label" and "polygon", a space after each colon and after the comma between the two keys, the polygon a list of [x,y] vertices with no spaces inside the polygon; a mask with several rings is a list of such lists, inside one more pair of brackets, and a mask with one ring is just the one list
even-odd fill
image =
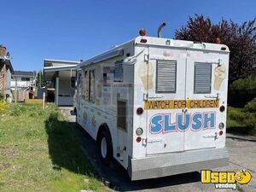
{"label": "louvered window on the left rear door of the truck", "polygon": [[177,79],[177,61],[156,61],[156,92],[175,93]]}

